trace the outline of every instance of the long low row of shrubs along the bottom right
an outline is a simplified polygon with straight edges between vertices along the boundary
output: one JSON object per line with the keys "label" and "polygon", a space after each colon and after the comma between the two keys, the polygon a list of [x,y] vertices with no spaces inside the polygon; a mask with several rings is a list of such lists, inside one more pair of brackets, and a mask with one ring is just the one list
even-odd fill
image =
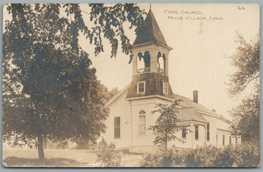
{"label": "long low row of shrubs along the bottom right", "polygon": [[253,144],[198,146],[158,150],[145,156],[145,167],[258,167],[259,147]]}

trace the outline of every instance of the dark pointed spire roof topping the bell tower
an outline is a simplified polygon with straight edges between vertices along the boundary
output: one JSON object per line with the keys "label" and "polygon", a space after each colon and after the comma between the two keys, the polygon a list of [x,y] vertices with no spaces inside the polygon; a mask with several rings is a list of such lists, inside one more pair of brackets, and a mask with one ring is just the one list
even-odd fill
{"label": "dark pointed spire roof topping the bell tower", "polygon": [[145,18],[145,26],[141,26],[141,28],[138,27],[137,37],[133,45],[150,42],[159,42],[167,46],[167,43],[153,16],[151,9]]}

